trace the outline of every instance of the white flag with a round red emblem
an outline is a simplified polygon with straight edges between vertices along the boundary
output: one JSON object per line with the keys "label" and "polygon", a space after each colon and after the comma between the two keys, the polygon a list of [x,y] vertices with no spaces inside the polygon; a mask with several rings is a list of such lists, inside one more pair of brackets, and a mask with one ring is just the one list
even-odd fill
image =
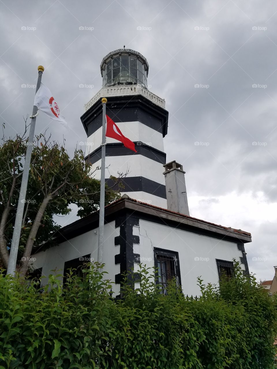
{"label": "white flag with a round red emblem", "polygon": [[51,119],[57,120],[69,131],[65,118],[63,115],[60,114],[59,106],[52,96],[51,91],[42,83],[37,93],[35,94],[34,105],[37,106],[38,109],[43,111],[46,115],[48,115],[48,117],[50,117]]}

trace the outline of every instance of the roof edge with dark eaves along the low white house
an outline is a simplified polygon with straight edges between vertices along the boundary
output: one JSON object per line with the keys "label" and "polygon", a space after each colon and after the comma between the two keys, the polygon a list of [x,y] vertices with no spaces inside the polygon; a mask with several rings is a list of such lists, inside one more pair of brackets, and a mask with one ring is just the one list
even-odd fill
{"label": "roof edge with dark eaves along the low white house", "polygon": [[[190,217],[189,215],[179,214],[175,211],[163,209],[158,206],[147,204],[138,200],[131,199],[129,196],[114,201],[113,203],[105,206],[105,220],[107,223],[118,217],[118,213],[123,210],[131,211],[134,216],[136,213],[143,214],[144,218],[156,217],[157,221],[166,225],[167,223],[178,223],[178,226],[185,227],[190,232],[199,233],[202,235],[209,235],[212,237],[217,234],[217,237],[224,238],[226,240],[252,242],[251,234],[242,230],[237,230],[231,227],[224,227],[215,223],[210,223],[201,219]],[[75,222],[66,225],[56,233],[56,239],[59,243],[68,239],[76,237],[80,234],[88,232],[98,227],[99,211],[95,211],[92,214],[87,215]],[[175,225],[174,225],[175,227]],[[177,228],[176,227],[176,228]],[[47,248],[47,243],[40,246],[35,252],[41,251]]]}

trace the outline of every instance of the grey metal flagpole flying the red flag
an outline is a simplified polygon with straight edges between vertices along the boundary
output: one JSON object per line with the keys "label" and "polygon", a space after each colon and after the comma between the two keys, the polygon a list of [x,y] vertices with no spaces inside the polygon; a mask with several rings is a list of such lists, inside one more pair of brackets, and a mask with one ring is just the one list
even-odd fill
{"label": "grey metal flagpole flying the red flag", "polygon": [[99,205],[99,230],[98,230],[98,259],[103,263],[104,254],[104,208],[105,208],[105,156],[106,156],[106,97],[103,97],[103,117],[102,117],[102,149],[101,149],[101,181],[100,181],[100,205]]}

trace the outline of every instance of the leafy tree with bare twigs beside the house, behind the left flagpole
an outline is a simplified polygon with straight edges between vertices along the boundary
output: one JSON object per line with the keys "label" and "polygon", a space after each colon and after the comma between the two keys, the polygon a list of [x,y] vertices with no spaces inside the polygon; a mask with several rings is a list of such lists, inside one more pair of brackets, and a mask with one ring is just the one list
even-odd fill
{"label": "leafy tree with bare twigs beside the house, behind the left flagpole", "polygon": [[[0,258],[5,268],[28,144],[26,128],[23,135],[13,139],[3,135],[0,146]],[[69,214],[70,204],[78,206],[77,215],[81,217],[98,210],[100,181],[93,178],[90,163],[84,159],[81,149],[76,148],[70,158],[65,142],[60,145],[45,134],[35,137],[18,252],[17,268],[21,275],[28,270],[33,247],[45,242],[54,244],[53,236],[60,228],[53,220],[55,214]],[[118,192],[106,186],[105,203],[117,198]]]}

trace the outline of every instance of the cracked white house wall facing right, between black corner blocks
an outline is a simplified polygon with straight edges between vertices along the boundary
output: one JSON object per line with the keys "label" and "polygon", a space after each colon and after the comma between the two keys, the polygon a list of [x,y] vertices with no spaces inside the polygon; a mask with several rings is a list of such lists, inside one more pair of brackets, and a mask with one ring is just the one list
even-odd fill
{"label": "cracked white house wall facing right, between black corner blocks", "polygon": [[[154,266],[154,247],[179,253],[181,283],[184,294],[199,295],[197,277],[201,276],[204,284],[218,284],[218,269],[215,259],[232,261],[243,256],[234,242],[201,236],[178,230],[166,225],[141,220],[136,230],[140,244],[134,252],[140,254],[141,263]],[[133,228],[135,230],[136,227]],[[244,269],[244,265],[242,265]],[[134,267],[137,270],[137,265]]]}

